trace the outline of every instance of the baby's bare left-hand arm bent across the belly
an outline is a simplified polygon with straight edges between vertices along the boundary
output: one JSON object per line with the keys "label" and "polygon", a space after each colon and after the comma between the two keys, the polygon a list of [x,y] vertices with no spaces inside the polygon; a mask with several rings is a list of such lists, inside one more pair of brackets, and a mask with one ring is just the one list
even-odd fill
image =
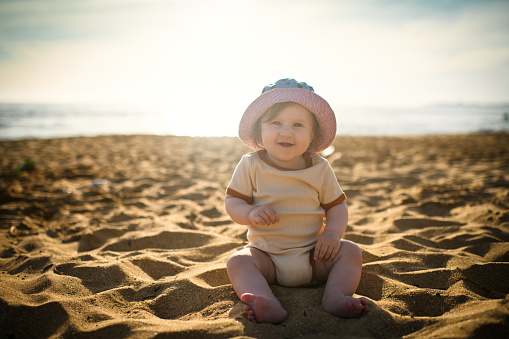
{"label": "baby's bare left-hand arm bent across the belly", "polygon": [[269,205],[252,206],[245,200],[226,195],[226,212],[241,225],[271,225],[279,222],[279,214]]}

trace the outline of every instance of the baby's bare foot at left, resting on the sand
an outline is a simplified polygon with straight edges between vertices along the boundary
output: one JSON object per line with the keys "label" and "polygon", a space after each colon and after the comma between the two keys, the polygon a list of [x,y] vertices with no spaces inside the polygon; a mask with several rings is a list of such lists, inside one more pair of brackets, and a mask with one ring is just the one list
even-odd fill
{"label": "baby's bare foot at left, resting on the sand", "polygon": [[240,300],[246,303],[244,310],[247,312],[247,318],[254,323],[278,324],[288,316],[277,299],[244,293]]}

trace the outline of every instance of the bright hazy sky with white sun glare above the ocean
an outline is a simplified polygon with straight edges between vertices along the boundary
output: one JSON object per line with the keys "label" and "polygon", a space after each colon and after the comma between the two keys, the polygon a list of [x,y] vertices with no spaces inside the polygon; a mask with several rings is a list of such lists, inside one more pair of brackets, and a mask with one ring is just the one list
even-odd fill
{"label": "bright hazy sky with white sun glare above the ocean", "polygon": [[289,77],[333,108],[507,103],[507,13],[508,0],[0,0],[0,102],[236,122]]}

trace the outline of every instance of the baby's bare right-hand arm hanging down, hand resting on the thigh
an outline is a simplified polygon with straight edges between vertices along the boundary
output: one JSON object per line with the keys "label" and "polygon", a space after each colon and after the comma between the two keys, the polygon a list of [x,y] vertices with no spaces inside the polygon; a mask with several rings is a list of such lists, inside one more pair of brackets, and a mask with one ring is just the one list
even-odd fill
{"label": "baby's bare right-hand arm hanging down, hand resting on the thigh", "polygon": [[341,238],[348,223],[346,202],[331,207],[326,215],[327,225],[318,237],[315,246],[315,260],[332,261],[339,252]]}

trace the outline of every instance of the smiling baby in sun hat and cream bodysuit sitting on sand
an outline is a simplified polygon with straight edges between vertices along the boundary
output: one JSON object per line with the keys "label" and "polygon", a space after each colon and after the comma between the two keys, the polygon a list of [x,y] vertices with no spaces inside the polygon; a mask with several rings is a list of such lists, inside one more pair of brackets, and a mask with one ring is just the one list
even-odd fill
{"label": "smiling baby in sun hat and cream bodysuit sitting on sand", "polygon": [[329,104],[294,79],[266,86],[242,116],[239,137],[256,152],[237,165],[225,206],[234,222],[248,226],[249,244],[228,259],[227,269],[250,321],[286,319],[269,284],[326,282],[327,312],[348,318],[367,310],[366,299],[352,297],[361,276],[361,250],[341,239],[346,196],[327,160],[316,154],[335,135]]}

